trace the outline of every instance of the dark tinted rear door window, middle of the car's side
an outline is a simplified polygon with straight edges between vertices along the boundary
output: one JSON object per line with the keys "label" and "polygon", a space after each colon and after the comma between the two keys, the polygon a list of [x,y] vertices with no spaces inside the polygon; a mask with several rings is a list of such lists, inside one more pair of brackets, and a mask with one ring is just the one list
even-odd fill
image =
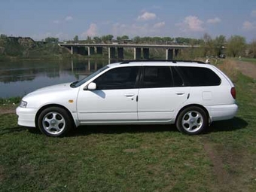
{"label": "dark tinted rear door window, middle of the car's side", "polygon": [[172,87],[172,73],[168,66],[145,66],[143,88]]}

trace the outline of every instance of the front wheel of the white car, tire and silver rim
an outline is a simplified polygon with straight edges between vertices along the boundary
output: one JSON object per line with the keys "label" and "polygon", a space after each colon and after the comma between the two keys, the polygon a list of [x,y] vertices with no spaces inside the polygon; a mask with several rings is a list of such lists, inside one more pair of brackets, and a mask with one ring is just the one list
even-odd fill
{"label": "front wheel of the white car, tire and silver rim", "polygon": [[72,117],[64,108],[45,108],[38,116],[38,128],[46,136],[66,136],[73,127]]}

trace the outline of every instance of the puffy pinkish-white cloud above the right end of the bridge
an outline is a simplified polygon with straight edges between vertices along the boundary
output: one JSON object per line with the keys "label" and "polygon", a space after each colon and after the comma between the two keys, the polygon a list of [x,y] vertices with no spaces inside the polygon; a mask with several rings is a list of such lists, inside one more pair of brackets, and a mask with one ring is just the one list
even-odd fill
{"label": "puffy pinkish-white cloud above the right end of the bridge", "polygon": [[203,21],[196,16],[187,16],[182,23],[176,23],[175,26],[180,26],[184,32],[203,32]]}

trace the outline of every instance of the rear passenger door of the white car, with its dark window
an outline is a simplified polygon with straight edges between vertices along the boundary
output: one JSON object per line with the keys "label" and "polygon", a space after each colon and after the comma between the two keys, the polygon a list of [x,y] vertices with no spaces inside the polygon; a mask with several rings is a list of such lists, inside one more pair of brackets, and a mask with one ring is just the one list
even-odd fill
{"label": "rear passenger door of the white car, with its dark window", "polygon": [[169,66],[143,68],[142,88],[138,98],[139,121],[172,120],[174,112],[187,100],[190,87],[182,87],[182,83],[175,87]]}

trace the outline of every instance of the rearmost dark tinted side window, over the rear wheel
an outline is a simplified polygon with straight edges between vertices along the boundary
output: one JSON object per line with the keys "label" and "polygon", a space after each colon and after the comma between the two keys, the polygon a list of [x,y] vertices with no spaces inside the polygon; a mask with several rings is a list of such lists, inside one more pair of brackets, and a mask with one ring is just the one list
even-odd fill
{"label": "rearmost dark tinted side window, over the rear wheel", "polygon": [[186,84],[191,87],[217,86],[221,84],[221,78],[211,69],[204,67],[176,67],[186,79]]}

